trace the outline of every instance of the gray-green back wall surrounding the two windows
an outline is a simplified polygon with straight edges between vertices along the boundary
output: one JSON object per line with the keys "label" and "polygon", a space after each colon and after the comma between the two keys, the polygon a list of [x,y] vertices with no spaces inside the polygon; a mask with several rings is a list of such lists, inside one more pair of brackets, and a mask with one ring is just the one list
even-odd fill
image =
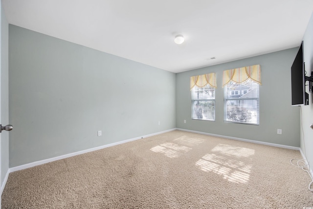
{"label": "gray-green back wall surrounding the two windows", "polygon": [[[297,50],[298,48],[291,48],[178,73],[176,75],[177,128],[299,147],[299,108],[291,106],[291,65]],[[255,64],[261,65],[260,125],[224,122],[223,70]],[[217,76],[216,121],[193,120],[191,119],[190,77],[210,72],[215,72]],[[186,123],[183,122],[184,119]],[[277,134],[277,129],[282,129],[282,135]]]}

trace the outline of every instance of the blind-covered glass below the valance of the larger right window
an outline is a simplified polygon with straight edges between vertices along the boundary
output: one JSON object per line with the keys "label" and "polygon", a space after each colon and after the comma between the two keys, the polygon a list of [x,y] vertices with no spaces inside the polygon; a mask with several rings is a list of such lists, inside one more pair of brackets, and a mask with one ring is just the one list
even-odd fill
{"label": "blind-covered glass below the valance of the larger right window", "polygon": [[259,124],[259,84],[246,80],[224,86],[224,121]]}

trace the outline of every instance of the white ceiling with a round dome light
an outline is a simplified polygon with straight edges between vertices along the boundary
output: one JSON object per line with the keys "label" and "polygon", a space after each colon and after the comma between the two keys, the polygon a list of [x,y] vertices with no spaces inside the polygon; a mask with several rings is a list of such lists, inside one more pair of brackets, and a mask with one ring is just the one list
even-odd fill
{"label": "white ceiling with a round dome light", "polygon": [[[2,6],[11,24],[172,72],[300,46],[313,12],[313,0],[2,0]],[[181,45],[174,43],[178,34],[185,37]]]}

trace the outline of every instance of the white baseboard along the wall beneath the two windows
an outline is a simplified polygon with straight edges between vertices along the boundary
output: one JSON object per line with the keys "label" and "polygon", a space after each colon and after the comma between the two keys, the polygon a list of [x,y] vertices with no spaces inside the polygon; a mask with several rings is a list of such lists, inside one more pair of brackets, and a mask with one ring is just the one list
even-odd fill
{"label": "white baseboard along the wall beneath the two windows", "polygon": [[179,131],[191,132],[191,133],[196,133],[196,134],[202,134],[202,135],[208,135],[208,136],[212,136],[212,137],[221,137],[221,138],[225,138],[225,139],[234,139],[234,140],[239,140],[239,141],[246,141],[246,142],[251,142],[251,143],[255,143],[255,144],[263,144],[263,145],[274,146],[274,147],[280,147],[280,148],[285,148],[285,149],[300,150],[299,147],[288,146],[288,145],[282,145],[282,144],[274,144],[274,143],[263,142],[263,141],[255,141],[255,140],[250,140],[250,139],[241,139],[241,138],[228,137],[228,136],[217,135],[217,134],[209,134],[209,133],[205,133],[205,132],[192,131],[192,130],[181,129],[181,128],[177,128],[177,130],[179,130]]}

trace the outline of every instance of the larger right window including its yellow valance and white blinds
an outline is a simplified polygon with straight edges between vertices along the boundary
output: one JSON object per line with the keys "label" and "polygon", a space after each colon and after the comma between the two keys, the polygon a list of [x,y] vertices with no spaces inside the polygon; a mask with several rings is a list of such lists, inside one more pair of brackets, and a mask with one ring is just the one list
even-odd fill
{"label": "larger right window including its yellow valance and white blinds", "polygon": [[259,125],[260,85],[260,65],[224,70],[224,121]]}

